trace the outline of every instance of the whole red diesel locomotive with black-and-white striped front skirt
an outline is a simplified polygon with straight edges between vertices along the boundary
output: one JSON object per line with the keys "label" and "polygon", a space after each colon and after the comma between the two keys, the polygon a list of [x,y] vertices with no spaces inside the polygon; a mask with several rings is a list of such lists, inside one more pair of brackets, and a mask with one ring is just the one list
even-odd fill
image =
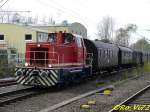
{"label": "whole red diesel locomotive with black-and-white striped front skirt", "polygon": [[16,67],[15,76],[23,85],[50,87],[89,76],[91,64],[81,36],[50,33],[47,42],[26,44],[25,66]]}

